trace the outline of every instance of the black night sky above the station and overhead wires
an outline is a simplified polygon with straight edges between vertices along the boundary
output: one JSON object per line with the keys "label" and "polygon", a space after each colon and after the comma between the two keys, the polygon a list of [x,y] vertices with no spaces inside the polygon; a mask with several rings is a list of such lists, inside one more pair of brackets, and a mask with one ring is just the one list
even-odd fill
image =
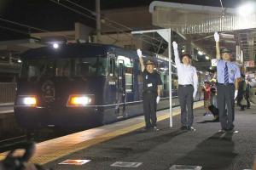
{"label": "black night sky above the station and overhead wires", "polygon": [[[95,10],[95,0],[70,0],[79,3],[85,8]],[[239,3],[245,0],[222,0],[224,7],[236,8]],[[68,4],[65,0],[61,3]],[[125,8],[136,6],[148,6],[152,0],[101,0],[102,9]],[[191,3],[220,7],[219,0],[169,0],[173,3]],[[69,3],[70,6],[70,3]],[[74,6],[70,6],[75,8]],[[79,8],[76,8],[79,9]],[[82,12],[81,9],[79,11]],[[89,14],[83,11],[84,14]],[[92,15],[90,15],[92,16]],[[87,26],[95,26],[95,20],[90,20],[81,14],[76,14],[67,8],[63,8],[50,0],[0,0],[0,18],[16,21],[28,26],[38,27],[47,31],[73,30],[74,22],[81,22]],[[16,31],[29,32],[26,27],[15,26],[0,20],[0,41],[19,39],[27,37],[26,34],[9,31],[6,28]]]}

